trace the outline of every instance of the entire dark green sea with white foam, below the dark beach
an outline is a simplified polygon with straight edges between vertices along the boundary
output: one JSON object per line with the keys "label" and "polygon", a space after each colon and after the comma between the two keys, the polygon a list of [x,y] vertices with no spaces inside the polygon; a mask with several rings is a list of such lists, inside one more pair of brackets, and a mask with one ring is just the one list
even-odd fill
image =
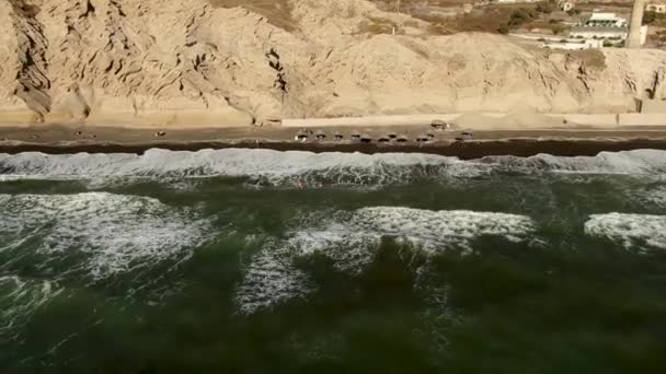
{"label": "entire dark green sea with white foam, below the dark beach", "polygon": [[0,373],[664,373],[666,152],[0,155]]}

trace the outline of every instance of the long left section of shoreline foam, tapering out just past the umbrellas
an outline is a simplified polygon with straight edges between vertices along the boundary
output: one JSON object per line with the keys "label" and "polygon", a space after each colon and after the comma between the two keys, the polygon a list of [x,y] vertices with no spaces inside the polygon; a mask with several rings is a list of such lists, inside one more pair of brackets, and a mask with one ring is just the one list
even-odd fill
{"label": "long left section of shoreline foam, tapering out just past the umbrellas", "polygon": [[259,177],[271,184],[383,184],[429,174],[479,173],[455,157],[427,154],[360,154],[278,152],[272,150],[202,150],[175,152],[152,149],[143,155],[43,153],[0,154],[5,178],[107,177]]}

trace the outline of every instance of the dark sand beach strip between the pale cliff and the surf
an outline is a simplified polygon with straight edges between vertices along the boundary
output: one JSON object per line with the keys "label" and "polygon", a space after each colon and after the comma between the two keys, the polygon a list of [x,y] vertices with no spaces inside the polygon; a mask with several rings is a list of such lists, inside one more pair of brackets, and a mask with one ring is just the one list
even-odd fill
{"label": "dark sand beach strip between the pale cliff and the surf", "polygon": [[[295,142],[294,128],[226,128],[165,130],[163,137],[154,137],[159,129],[120,129],[108,127],[36,126],[32,128],[0,128],[0,153],[44,152],[67,153],[142,153],[151,148],[174,151],[202,149],[272,149],[278,151],[311,152],[418,152],[478,159],[486,155],[509,154],[529,156],[538,153],[553,155],[596,155],[602,151],[634,149],[666,150],[666,130],[487,130],[474,131],[474,140],[460,142],[460,131],[436,131],[427,127],[384,128],[322,128],[329,141]],[[79,135],[78,131],[81,131]],[[353,131],[367,133],[370,143],[351,143]],[[344,135],[346,141],[331,140],[334,132]],[[378,143],[377,139],[389,132],[409,138],[406,143]],[[433,132],[435,139],[418,144],[418,135]],[[312,137],[310,137],[312,138]]]}

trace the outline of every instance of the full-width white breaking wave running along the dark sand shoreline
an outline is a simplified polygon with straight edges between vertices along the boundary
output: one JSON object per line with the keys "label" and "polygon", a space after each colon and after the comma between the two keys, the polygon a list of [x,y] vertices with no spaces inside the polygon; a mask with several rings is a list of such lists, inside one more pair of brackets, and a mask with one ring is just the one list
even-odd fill
{"label": "full-width white breaking wave running along the dark sand shoreline", "polygon": [[[566,172],[661,175],[666,152],[636,150],[601,152],[596,156],[489,156],[476,161],[417,153],[311,153],[272,150],[202,150],[176,152],[152,149],[142,155],[43,153],[0,154],[0,176],[16,178],[95,179],[108,177],[183,178],[251,177],[269,185],[383,185],[418,177],[475,177],[492,172]],[[1,180],[1,179],[0,179]]]}

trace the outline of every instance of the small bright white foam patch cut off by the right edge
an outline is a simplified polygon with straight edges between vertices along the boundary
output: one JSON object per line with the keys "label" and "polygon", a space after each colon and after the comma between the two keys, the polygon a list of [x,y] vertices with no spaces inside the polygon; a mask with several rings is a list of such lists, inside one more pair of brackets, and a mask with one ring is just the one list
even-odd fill
{"label": "small bright white foam patch cut off by the right edge", "polygon": [[651,247],[666,249],[666,215],[594,214],[585,222],[585,232],[620,242],[639,253]]}

